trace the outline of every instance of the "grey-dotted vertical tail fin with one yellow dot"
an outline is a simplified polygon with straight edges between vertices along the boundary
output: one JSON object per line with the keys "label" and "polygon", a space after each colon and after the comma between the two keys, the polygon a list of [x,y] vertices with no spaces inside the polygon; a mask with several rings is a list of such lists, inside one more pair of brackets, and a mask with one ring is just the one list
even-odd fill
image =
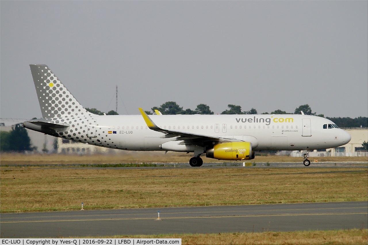
{"label": "grey-dotted vertical tail fin with one yellow dot", "polygon": [[47,65],[29,65],[43,118],[90,116]]}

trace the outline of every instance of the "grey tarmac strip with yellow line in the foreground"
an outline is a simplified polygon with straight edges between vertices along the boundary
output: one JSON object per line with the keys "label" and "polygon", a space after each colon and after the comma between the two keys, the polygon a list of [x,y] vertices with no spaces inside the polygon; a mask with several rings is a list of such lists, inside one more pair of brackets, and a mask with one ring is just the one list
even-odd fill
{"label": "grey tarmac strip with yellow line in the foreground", "polygon": [[368,202],[11,213],[0,223],[1,238],[335,230],[367,228]]}

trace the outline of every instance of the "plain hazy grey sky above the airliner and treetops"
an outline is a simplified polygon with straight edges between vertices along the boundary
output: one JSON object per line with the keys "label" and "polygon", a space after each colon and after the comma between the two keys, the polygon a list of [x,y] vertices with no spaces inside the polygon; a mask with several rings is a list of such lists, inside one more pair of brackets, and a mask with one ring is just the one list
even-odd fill
{"label": "plain hazy grey sky above the airliner and treetops", "polygon": [[368,116],[368,1],[0,1],[1,118],[41,117],[29,64],[84,106],[167,101]]}

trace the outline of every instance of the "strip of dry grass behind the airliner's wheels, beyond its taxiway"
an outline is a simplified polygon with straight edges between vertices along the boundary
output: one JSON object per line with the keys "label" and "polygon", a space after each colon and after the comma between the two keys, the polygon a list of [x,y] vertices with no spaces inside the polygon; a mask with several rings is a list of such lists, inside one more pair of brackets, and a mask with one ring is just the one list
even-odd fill
{"label": "strip of dry grass behind the airliner's wheels, beyond its taxiway", "polygon": [[[62,155],[62,154],[15,154],[2,153],[0,155],[0,166],[4,165],[44,165],[44,164],[118,164],[118,163],[188,163],[192,153],[178,152],[128,152],[121,151],[111,154],[96,155]],[[205,163],[223,163],[236,161],[223,161],[202,157]],[[309,157],[313,162],[368,162],[368,157]],[[289,156],[256,156],[249,160],[252,163],[275,163],[275,162],[300,162],[302,157]],[[239,161],[237,161],[239,162]]]}

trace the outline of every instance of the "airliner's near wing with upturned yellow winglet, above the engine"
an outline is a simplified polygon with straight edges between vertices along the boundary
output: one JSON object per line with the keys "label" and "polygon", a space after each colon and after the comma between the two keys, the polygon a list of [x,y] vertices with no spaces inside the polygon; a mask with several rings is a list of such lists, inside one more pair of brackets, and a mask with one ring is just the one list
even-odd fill
{"label": "airliner's near wing with upturned yellow winglet, above the engine", "polygon": [[161,138],[176,137],[176,139],[173,139],[172,141],[183,141],[179,143],[179,145],[207,145],[213,141],[216,141],[216,142],[240,141],[238,139],[233,139],[233,138],[222,138],[222,137],[211,136],[211,135],[193,134],[193,133],[187,133],[187,132],[181,132],[181,131],[162,129],[158,127],[152,121],[152,119],[145,113],[145,111],[142,108],[139,108],[139,111],[141,112],[144,118],[144,121],[146,122],[149,129],[165,134]]}

